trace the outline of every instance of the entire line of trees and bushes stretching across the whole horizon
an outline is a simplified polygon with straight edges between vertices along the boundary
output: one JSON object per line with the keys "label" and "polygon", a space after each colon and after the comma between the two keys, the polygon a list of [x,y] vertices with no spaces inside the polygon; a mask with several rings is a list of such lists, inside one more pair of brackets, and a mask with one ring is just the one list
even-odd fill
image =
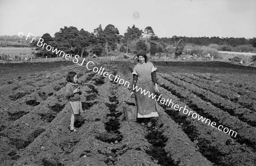
{"label": "entire line of trees and bushes stretching across the whole horizon", "polygon": [[[38,39],[38,37],[36,37]],[[151,26],[147,26],[144,31],[133,26],[128,26],[124,35],[119,34],[119,30],[109,24],[102,29],[99,25],[93,32],[85,31],[81,29],[80,31],[73,26],[61,28],[60,31],[51,37],[50,34],[46,33],[41,38],[44,39],[44,43],[62,50],[67,54],[78,54],[80,57],[87,56],[88,54],[96,55],[109,55],[113,52],[124,52],[124,53],[136,53],[139,50],[145,50],[150,52],[152,55],[157,53],[175,53],[176,56],[182,54],[184,51],[184,46],[191,43],[198,46],[209,46],[216,44],[220,48],[218,50],[232,51],[234,47],[243,46],[246,49],[247,45],[252,45],[256,47],[256,38],[245,39],[245,38],[219,38],[219,37],[162,37],[158,38]],[[15,41],[18,40],[26,41],[26,36],[19,38],[17,35],[13,36],[0,36],[0,42]],[[26,41],[30,42],[32,38]],[[51,52],[47,51],[45,48],[38,47],[38,41],[30,43],[29,46],[38,50],[38,56],[56,56]],[[3,46],[2,43],[0,46]],[[214,46],[214,47],[218,47]],[[252,47],[251,46],[251,47]]]}

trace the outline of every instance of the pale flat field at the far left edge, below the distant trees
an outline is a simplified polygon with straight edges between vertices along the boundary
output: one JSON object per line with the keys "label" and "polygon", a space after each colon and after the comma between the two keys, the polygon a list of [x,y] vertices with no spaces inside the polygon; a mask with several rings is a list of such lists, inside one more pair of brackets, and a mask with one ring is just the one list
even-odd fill
{"label": "pale flat field at the far left edge, below the distant trees", "polygon": [[32,52],[37,52],[35,50],[32,50],[31,48],[16,48],[16,47],[0,47],[0,55],[3,54],[9,54],[10,57],[13,57],[14,55],[20,55],[20,54],[32,54]]}

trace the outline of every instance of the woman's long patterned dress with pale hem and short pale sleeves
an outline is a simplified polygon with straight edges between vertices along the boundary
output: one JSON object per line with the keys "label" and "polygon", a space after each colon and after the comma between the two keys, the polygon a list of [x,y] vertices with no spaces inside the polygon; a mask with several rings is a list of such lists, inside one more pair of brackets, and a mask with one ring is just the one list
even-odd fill
{"label": "woman's long patterned dress with pale hem and short pale sleeves", "polygon": [[[157,68],[154,68],[153,63],[151,62],[143,64],[138,63],[136,66],[134,66],[134,71],[132,74],[136,74],[138,76],[136,86],[137,89],[141,88],[138,92],[135,89],[134,92],[135,100],[137,101],[138,104],[138,118],[158,117],[157,108],[159,108],[159,106],[155,98],[152,99],[152,97],[154,97],[155,95],[155,90],[151,77],[151,72],[156,71],[156,69]],[[148,97],[150,95],[151,97]]]}

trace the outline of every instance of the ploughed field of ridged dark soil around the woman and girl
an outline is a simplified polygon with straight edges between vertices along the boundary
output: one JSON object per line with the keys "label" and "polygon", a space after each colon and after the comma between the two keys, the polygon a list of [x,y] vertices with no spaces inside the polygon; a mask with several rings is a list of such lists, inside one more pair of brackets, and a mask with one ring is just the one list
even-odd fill
{"label": "ploughed field of ridged dark soil around the woman and girl", "polygon": [[[136,62],[99,62],[132,82]],[[153,62],[161,97],[237,132],[225,134],[159,102],[147,128],[126,122],[129,88],[72,62],[0,65],[2,166],[255,166],[256,68],[222,62]],[[84,114],[70,132],[64,97],[75,71]],[[158,97],[157,97],[158,98]],[[159,100],[160,101],[160,100]]]}

